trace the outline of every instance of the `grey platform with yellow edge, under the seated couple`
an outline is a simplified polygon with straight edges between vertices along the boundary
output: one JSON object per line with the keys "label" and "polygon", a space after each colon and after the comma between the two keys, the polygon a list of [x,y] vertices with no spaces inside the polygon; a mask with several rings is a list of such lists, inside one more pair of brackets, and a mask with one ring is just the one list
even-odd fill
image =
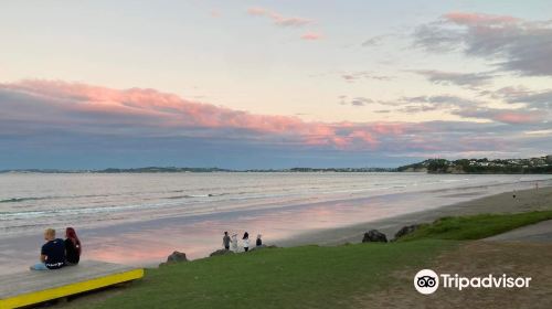
{"label": "grey platform with yellow edge, under the seated couple", "polygon": [[144,269],[87,260],[56,270],[0,276],[0,309],[19,308],[144,277]]}

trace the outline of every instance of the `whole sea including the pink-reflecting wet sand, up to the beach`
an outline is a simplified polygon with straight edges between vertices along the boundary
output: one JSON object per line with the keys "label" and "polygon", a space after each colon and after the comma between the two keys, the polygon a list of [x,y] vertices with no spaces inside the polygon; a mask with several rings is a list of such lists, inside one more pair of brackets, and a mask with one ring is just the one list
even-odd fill
{"label": "whole sea including the pink-reflecting wet sand, up to the beach", "polygon": [[[223,231],[265,242],[523,189],[550,175],[425,173],[0,174],[0,265],[31,263],[41,231],[74,226],[85,258],[153,263],[192,258]],[[62,235],[63,236],[63,235]],[[1,268],[1,267],[0,267]]]}

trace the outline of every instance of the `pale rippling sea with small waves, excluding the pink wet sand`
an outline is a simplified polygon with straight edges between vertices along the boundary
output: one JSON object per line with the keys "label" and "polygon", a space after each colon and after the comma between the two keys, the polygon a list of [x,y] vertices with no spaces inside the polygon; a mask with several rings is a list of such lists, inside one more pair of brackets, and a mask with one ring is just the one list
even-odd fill
{"label": "pale rippling sea with small waves, excluding the pink wet sand", "polygon": [[51,225],[89,226],[279,209],[543,178],[422,173],[1,174],[0,231],[8,235]]}

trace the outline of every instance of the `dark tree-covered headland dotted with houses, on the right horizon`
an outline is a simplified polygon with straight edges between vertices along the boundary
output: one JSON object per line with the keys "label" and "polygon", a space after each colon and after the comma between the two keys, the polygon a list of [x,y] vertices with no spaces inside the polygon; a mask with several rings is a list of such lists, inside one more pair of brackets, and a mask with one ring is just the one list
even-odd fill
{"label": "dark tree-covered headland dotted with houses, on the right horizon", "polygon": [[428,173],[552,173],[552,156],[530,159],[428,159],[397,168],[400,172]]}

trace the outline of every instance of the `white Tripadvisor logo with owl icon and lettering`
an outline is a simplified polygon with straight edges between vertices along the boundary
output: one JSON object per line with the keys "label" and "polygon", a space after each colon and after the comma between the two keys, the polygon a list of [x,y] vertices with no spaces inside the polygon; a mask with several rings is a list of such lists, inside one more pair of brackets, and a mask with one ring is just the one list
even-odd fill
{"label": "white Tripadvisor logo with owl icon and lettering", "polygon": [[529,288],[531,277],[510,277],[506,274],[482,277],[463,277],[458,274],[440,274],[432,269],[422,269],[414,276],[414,288],[421,294],[434,294],[439,286],[463,290],[465,288]]}

